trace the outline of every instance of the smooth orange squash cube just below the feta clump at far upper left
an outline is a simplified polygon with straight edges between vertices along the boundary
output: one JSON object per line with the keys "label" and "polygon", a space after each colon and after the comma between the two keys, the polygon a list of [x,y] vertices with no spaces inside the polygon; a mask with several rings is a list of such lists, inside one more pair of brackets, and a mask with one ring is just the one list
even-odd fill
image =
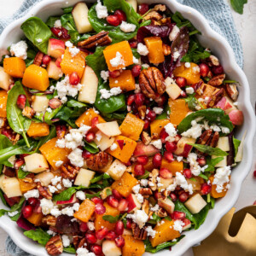
{"label": "smooth orange squash cube just below the feta clump at far upper left", "polygon": [[5,58],[3,60],[3,69],[5,73],[8,73],[14,78],[23,78],[26,63],[18,57]]}

